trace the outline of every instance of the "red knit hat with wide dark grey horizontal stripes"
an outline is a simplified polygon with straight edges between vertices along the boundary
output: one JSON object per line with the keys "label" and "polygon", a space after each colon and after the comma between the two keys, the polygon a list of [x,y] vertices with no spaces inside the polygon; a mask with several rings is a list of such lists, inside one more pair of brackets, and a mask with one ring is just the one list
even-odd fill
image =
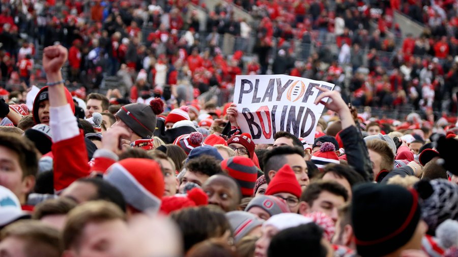
{"label": "red knit hat with wide dark grey horizontal stripes", "polygon": [[242,195],[251,197],[257,179],[257,169],[250,158],[234,156],[221,162],[221,169],[226,170],[240,185]]}

